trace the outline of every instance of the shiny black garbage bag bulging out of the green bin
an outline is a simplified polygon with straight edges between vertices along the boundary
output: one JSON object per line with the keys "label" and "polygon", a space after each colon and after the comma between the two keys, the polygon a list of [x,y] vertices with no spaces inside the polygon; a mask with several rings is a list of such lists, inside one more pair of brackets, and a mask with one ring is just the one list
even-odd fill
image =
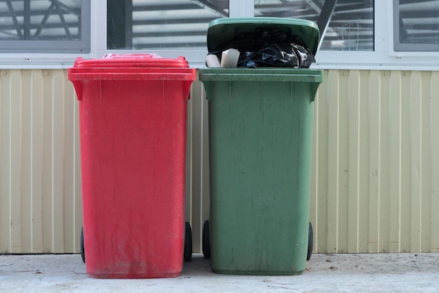
{"label": "shiny black garbage bag bulging out of the green bin", "polygon": [[316,62],[313,54],[298,36],[278,28],[257,27],[255,32],[239,34],[231,41],[210,52],[221,59],[224,50],[239,50],[237,67],[302,67]]}

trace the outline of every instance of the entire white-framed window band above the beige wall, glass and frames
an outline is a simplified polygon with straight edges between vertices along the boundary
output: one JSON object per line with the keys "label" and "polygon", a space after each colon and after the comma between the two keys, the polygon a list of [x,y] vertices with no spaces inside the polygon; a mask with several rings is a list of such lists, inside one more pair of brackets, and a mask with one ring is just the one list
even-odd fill
{"label": "entire white-framed window band above the beige wall, glass and frames", "polygon": [[315,68],[439,67],[439,0],[0,0],[0,65],[151,52],[204,67],[210,21],[253,16],[316,22]]}

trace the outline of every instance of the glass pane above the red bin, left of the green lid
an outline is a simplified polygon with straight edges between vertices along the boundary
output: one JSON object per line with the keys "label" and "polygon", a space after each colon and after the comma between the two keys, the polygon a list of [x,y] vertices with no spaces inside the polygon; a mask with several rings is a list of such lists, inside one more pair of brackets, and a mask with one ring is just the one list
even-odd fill
{"label": "glass pane above the red bin, left of the green lid", "polygon": [[205,48],[208,24],[229,0],[107,0],[107,48]]}

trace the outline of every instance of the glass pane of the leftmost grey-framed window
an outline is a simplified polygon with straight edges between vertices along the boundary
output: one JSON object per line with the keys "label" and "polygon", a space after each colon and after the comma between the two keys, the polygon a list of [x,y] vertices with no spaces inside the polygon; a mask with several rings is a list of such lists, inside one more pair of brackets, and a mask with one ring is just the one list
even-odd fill
{"label": "glass pane of the leftmost grey-framed window", "polygon": [[1,40],[81,40],[81,0],[0,2]]}

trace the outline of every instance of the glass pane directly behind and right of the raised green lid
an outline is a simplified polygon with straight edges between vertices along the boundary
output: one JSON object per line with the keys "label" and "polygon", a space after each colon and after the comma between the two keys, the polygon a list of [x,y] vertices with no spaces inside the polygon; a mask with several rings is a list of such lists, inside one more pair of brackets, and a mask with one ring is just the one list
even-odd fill
{"label": "glass pane directly behind and right of the raised green lid", "polygon": [[373,0],[255,0],[255,16],[316,22],[320,50],[374,50]]}

